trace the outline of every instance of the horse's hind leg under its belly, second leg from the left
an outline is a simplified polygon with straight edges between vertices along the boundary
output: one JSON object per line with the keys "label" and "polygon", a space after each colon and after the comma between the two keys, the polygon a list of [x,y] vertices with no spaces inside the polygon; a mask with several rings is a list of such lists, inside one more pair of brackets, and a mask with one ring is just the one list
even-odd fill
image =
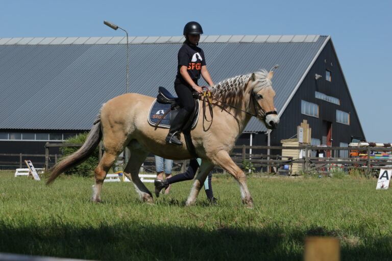
{"label": "horse's hind leg under its belly, second leg from the left", "polygon": [[145,187],[139,178],[140,167],[149,152],[141,149],[129,147],[131,150],[129,162],[124,170],[124,174],[133,182],[136,192],[143,202],[154,204],[153,196],[148,188]]}

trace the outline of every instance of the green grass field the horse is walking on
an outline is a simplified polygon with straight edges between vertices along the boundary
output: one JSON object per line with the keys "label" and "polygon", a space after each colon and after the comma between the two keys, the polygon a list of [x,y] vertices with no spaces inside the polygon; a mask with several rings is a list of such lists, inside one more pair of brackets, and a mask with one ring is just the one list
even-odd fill
{"label": "green grass field the horse is walking on", "polygon": [[[142,204],[127,182],[42,181],[0,172],[0,252],[95,260],[302,260],[307,235],[340,239],[342,260],[392,259],[392,191],[377,179],[248,178],[255,208],[228,175],[214,176],[218,205],[204,191],[185,207],[191,181]],[[153,191],[153,185],[147,184]]]}

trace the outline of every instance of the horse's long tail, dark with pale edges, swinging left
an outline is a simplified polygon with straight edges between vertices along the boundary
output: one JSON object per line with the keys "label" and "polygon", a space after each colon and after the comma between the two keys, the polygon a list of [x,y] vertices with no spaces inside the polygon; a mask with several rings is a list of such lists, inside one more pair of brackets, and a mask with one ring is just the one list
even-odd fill
{"label": "horse's long tail, dark with pale edges, swinging left", "polygon": [[100,111],[100,113],[96,116],[91,131],[88,134],[88,137],[83,143],[82,147],[76,152],[64,158],[62,161],[57,163],[55,166],[53,166],[53,168],[48,171],[49,173],[51,173],[51,176],[46,181],[46,185],[50,185],[64,171],[69,170],[87,160],[96,148],[96,146],[100,143],[101,138],[102,131]]}

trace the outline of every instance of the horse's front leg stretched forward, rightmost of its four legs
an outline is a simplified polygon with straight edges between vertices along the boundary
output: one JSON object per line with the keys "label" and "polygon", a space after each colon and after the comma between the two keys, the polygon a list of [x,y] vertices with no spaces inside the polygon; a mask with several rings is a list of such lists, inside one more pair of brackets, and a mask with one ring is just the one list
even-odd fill
{"label": "horse's front leg stretched forward, rightmost of its four legs", "polygon": [[212,160],[216,165],[225,169],[235,178],[235,180],[237,180],[241,192],[242,203],[246,204],[249,208],[253,207],[252,196],[247,185],[247,177],[233,162],[229,153],[227,151],[220,150],[218,153],[213,155]]}

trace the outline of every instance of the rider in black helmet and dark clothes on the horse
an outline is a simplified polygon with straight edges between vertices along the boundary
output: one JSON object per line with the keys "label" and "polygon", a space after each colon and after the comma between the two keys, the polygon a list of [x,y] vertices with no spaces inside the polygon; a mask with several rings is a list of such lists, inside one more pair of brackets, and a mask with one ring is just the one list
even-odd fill
{"label": "rider in black helmet and dark clothes on the horse", "polygon": [[186,40],[178,51],[177,76],[174,82],[180,109],[173,122],[170,122],[169,133],[165,139],[168,143],[182,145],[180,132],[185,120],[194,109],[192,92],[201,93],[203,91],[202,87],[198,85],[200,75],[210,86],[214,85],[207,70],[204,51],[197,46],[201,34],[203,34],[203,29],[198,22],[192,21],[185,24],[184,36]]}

